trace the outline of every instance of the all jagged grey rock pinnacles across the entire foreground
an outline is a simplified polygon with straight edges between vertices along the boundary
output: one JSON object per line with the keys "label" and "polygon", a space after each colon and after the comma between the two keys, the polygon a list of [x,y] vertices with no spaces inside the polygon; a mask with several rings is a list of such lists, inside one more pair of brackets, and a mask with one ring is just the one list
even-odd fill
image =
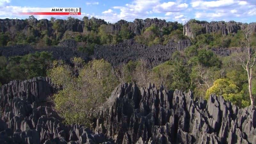
{"label": "all jagged grey rock pinnacles across the entire foreground", "polygon": [[0,88],[2,144],[256,143],[256,110],[211,95],[120,84],[102,106],[93,130],[65,125],[47,100],[59,88],[48,78],[11,81]]}

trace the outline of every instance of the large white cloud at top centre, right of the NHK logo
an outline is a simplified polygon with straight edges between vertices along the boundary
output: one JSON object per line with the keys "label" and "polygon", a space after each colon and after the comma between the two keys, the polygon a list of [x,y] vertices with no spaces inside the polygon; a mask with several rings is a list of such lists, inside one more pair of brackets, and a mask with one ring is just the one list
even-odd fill
{"label": "large white cloud at top centre, right of the NHK logo", "polygon": [[[177,0],[175,2],[161,2],[161,0],[133,0],[131,3],[125,4],[123,6],[113,6],[112,8],[118,13],[106,10],[104,11],[104,19],[118,21],[120,19],[132,21],[136,18],[159,18],[159,19],[173,19],[175,16],[180,16],[188,8],[188,4],[182,2],[182,0]],[[159,13],[165,16],[159,16]],[[114,15],[115,14],[115,15]],[[183,14],[184,15],[184,14]],[[181,18],[181,17],[180,17]],[[180,20],[179,20],[180,21]]]}

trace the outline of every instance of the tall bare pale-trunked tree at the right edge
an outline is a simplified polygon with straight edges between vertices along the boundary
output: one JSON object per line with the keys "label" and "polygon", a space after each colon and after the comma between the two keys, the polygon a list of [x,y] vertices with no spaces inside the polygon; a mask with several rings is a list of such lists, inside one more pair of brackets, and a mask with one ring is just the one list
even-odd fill
{"label": "tall bare pale-trunked tree at the right edge", "polygon": [[249,96],[251,105],[254,105],[255,98],[252,95],[252,68],[255,65],[256,51],[255,48],[252,48],[251,46],[253,31],[247,26],[244,28],[243,34],[244,37],[241,40],[241,45],[242,48],[244,48],[244,51],[235,54],[235,62],[236,64],[241,65],[247,72]]}

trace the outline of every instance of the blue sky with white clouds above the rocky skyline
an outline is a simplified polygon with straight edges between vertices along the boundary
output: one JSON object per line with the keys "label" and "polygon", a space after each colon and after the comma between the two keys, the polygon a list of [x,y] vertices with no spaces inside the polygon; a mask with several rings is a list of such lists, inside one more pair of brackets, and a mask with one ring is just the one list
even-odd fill
{"label": "blue sky with white clouds above the rocky skyline", "polygon": [[[189,19],[256,22],[256,0],[0,0],[0,18],[28,18],[15,14],[28,7],[81,7],[82,15],[75,18],[94,16],[111,23],[155,17],[183,24]],[[35,17],[50,19],[51,16]]]}

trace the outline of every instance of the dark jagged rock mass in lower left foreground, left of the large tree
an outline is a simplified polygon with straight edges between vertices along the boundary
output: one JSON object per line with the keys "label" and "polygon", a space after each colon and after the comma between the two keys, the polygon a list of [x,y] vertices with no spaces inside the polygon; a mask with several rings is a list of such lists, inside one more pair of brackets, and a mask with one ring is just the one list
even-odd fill
{"label": "dark jagged rock mass in lower left foreground, left of the large tree", "polygon": [[0,88],[1,144],[99,144],[103,133],[94,134],[83,125],[64,125],[47,101],[56,92],[48,78],[11,81]]}

